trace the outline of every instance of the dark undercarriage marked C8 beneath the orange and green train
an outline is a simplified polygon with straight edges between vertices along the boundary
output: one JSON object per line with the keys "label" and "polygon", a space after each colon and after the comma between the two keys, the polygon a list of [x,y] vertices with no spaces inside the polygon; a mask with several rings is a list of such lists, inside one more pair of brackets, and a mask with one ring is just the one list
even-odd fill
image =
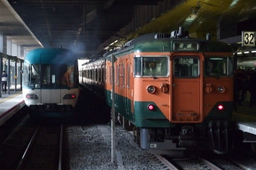
{"label": "dark undercarriage marked C8 beneath the orange and green train", "polygon": [[170,128],[139,128],[123,118],[122,124],[124,129],[133,130],[134,141],[142,149],[154,154],[183,155],[195,150],[225,154],[231,143],[227,121],[209,121],[207,127],[177,124]]}

